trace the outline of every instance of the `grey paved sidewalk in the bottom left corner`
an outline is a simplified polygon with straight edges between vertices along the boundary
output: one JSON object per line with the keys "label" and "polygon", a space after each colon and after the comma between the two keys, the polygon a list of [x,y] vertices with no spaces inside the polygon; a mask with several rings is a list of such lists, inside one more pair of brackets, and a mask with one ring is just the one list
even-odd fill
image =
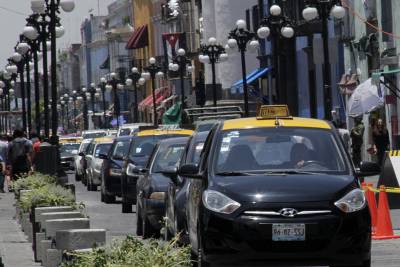
{"label": "grey paved sidewalk in the bottom left corner", "polygon": [[0,256],[5,267],[40,266],[15,216],[14,194],[0,194]]}

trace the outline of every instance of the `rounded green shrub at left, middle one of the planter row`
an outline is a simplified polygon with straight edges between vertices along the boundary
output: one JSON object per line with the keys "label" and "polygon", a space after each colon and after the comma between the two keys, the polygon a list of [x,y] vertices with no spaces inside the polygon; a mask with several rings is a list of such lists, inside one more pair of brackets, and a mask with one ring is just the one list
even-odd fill
{"label": "rounded green shrub at left, middle one of the planter row", "polygon": [[19,199],[19,206],[23,212],[29,212],[34,207],[75,206],[73,193],[59,185],[48,184],[40,188],[31,189]]}

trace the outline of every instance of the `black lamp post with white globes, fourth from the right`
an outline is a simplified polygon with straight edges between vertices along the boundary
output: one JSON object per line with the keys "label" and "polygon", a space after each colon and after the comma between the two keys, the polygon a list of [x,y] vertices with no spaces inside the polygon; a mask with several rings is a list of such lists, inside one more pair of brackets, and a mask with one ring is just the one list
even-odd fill
{"label": "black lamp post with white globes, fourth from the right", "polygon": [[212,86],[213,86],[213,100],[214,107],[217,106],[217,79],[216,79],[216,71],[215,64],[218,62],[224,62],[228,60],[228,54],[225,52],[225,48],[217,44],[217,39],[215,37],[210,37],[208,39],[207,44],[200,45],[200,62],[206,64],[209,63],[211,65],[211,73],[212,73]]}

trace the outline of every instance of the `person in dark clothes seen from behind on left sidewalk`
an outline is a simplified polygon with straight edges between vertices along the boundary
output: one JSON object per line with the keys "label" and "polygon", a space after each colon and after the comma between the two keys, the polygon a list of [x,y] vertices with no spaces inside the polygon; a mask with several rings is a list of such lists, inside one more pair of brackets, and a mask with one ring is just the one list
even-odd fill
{"label": "person in dark clothes seen from behind on left sidewalk", "polygon": [[22,130],[15,130],[13,140],[8,145],[9,162],[12,179],[17,180],[22,174],[32,169],[32,142],[24,137]]}

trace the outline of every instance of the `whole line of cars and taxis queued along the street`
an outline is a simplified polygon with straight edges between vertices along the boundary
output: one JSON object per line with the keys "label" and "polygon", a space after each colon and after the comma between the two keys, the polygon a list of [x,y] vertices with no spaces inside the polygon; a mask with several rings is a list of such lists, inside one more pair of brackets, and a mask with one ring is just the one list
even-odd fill
{"label": "whole line of cars and taxis queued along the street", "polygon": [[380,168],[355,168],[329,122],[265,106],[256,118],[194,130],[123,132],[83,137],[74,146],[75,178],[88,190],[100,187],[105,203],[120,197],[124,213],[136,205],[137,235],[178,236],[198,266],[371,266],[359,179]]}

